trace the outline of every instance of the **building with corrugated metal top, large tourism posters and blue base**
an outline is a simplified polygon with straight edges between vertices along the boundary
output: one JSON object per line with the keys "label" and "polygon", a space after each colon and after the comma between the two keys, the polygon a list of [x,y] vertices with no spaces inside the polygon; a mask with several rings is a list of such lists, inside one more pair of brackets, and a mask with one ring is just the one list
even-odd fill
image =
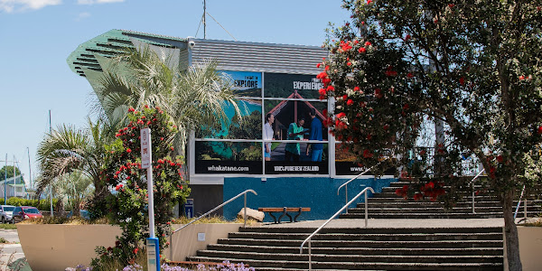
{"label": "building with corrugated metal top, large tourism posters and blue base", "polygon": [[[332,101],[319,99],[322,88],[316,74],[321,70],[316,64],[327,57],[327,51],[315,46],[270,44],[257,42],[229,42],[193,38],[174,38],[150,33],[111,30],[83,42],[73,51],[68,64],[71,70],[96,86],[107,57],[125,48],[148,45],[153,51],[167,54],[182,69],[213,58],[219,61],[219,70],[234,79],[238,96],[248,108],[246,117],[257,117],[261,126],[251,131],[251,138],[239,138],[228,129],[220,136],[191,138],[188,148],[190,186],[194,213],[203,213],[239,192],[252,189],[257,196],[248,196],[248,207],[311,207],[305,219],[329,218],[344,204],[344,192],[338,187],[364,170],[353,164],[353,157],[339,153],[332,135],[323,131],[322,141],[308,141],[311,126],[309,110],[322,111],[332,108]],[[171,64],[171,63],[170,63]],[[228,111],[228,108],[226,108]],[[276,117],[271,161],[265,161],[263,126],[266,114]],[[233,112],[229,112],[229,117]],[[298,118],[304,117],[304,141],[287,141],[287,128]],[[227,135],[227,136],[224,136]],[[300,150],[299,162],[285,161],[286,144]],[[322,143],[321,162],[309,161],[304,155],[307,144]],[[391,182],[391,176],[375,179],[367,176],[350,185],[349,197],[365,186],[378,192]],[[243,206],[241,200],[223,208],[223,215],[231,219]]]}

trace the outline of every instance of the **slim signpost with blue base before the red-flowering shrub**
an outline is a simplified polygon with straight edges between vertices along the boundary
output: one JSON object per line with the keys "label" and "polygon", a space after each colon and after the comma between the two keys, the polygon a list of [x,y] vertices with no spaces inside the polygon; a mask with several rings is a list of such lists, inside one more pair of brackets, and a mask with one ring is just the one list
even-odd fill
{"label": "slim signpost with blue base before the red-flowering shrub", "polygon": [[160,246],[154,236],[154,193],[153,193],[153,146],[151,129],[141,129],[141,168],[147,170],[147,193],[149,210],[149,235],[146,241],[147,266],[149,271],[160,271]]}

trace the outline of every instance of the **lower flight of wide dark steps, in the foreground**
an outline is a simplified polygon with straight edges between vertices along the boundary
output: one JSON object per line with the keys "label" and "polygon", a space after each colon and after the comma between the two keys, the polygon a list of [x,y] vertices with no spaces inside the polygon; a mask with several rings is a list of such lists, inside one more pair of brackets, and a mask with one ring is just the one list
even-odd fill
{"label": "lower flight of wide dark steps, in the foreground", "polygon": [[[292,224],[293,226],[295,224]],[[242,262],[256,270],[307,270],[314,228],[241,228],[189,261]],[[329,228],[312,241],[313,270],[502,270],[502,229]]]}

